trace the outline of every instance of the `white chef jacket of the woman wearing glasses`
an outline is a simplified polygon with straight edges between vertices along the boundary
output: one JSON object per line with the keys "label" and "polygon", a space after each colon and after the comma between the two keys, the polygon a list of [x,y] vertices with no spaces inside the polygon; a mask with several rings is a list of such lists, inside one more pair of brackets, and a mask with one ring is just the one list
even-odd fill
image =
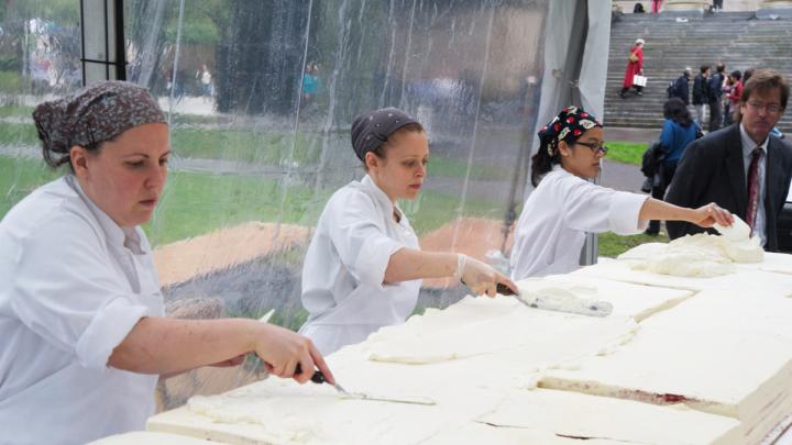
{"label": "white chef jacket of the woman wearing glasses", "polygon": [[512,279],[580,268],[586,232],[642,232],[649,222],[638,214],[648,198],[597,186],[554,166],[526,200],[515,227]]}

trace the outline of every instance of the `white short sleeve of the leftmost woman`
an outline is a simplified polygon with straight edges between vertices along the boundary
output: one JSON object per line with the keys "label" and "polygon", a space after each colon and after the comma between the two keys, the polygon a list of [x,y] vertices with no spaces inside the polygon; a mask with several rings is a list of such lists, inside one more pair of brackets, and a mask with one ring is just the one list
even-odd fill
{"label": "white short sleeve of the leftmost woman", "polygon": [[111,269],[101,237],[81,215],[54,215],[15,246],[11,308],[45,342],[101,369],[148,309]]}

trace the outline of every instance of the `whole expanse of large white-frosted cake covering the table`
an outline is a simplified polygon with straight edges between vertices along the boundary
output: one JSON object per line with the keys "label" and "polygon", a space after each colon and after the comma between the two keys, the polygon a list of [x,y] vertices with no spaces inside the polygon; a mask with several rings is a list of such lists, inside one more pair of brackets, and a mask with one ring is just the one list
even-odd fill
{"label": "whole expanse of large white-frosted cake covering the table", "polygon": [[607,318],[465,298],[327,357],[351,392],[435,405],[271,378],[195,397],[148,429],[278,445],[757,443],[792,412],[792,275],[750,267],[690,278],[607,262],[518,282],[608,301]]}

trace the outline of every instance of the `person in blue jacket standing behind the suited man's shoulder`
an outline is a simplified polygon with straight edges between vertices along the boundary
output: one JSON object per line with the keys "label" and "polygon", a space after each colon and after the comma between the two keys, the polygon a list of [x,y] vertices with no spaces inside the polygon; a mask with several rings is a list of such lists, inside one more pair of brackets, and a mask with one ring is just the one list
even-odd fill
{"label": "person in blue jacket standing behind the suited man's shoulder", "polygon": [[[660,144],[664,153],[663,160],[659,165],[660,183],[654,185],[651,196],[654,199],[662,200],[666,196],[666,189],[673,179],[676,164],[684,153],[688,144],[696,140],[700,129],[691,119],[688,107],[680,98],[671,98],[663,104],[663,123],[660,133]],[[645,232],[647,235],[656,236],[660,233],[660,221],[652,220],[649,227]]]}

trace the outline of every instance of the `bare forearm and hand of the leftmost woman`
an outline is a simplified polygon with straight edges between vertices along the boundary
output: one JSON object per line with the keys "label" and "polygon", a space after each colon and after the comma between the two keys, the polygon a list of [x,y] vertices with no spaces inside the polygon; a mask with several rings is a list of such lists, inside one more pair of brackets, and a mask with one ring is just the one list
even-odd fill
{"label": "bare forearm and hand of the leftmost woman", "polygon": [[[172,375],[255,353],[270,372],[310,379],[318,367],[328,379],[332,372],[309,338],[255,320],[174,320],[160,316],[141,319],[118,345],[108,366],[139,374]],[[334,380],[333,380],[334,381]]]}

